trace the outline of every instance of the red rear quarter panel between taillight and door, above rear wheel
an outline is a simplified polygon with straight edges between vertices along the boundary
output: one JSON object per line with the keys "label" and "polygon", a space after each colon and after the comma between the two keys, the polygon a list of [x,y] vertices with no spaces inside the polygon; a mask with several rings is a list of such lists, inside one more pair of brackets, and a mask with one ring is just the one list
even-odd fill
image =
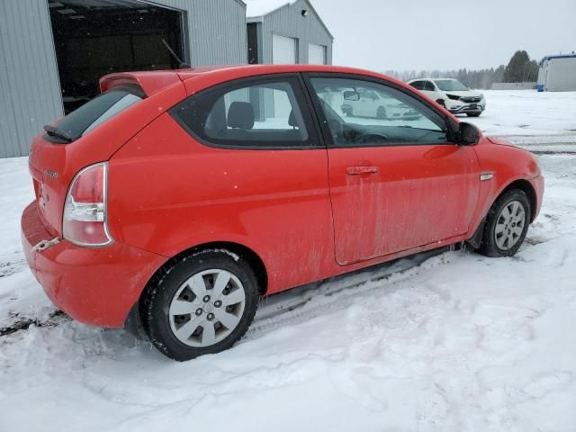
{"label": "red rear quarter panel between taillight and door, above rear wheel", "polygon": [[[325,148],[210,148],[164,115],[110,164],[110,220],[122,221],[121,230],[111,223],[114,238],[166,257],[238,243],[264,261],[269,292],[321,279],[334,262]],[[175,164],[184,167],[177,176]]]}

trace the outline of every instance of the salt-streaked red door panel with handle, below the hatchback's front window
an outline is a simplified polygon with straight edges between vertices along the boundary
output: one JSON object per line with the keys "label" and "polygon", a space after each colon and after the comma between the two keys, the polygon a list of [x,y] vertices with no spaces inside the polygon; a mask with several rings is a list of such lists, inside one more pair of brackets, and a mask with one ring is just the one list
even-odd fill
{"label": "salt-streaked red door panel with handle, below the hatchback's front window", "polygon": [[[348,175],[347,168],[377,171]],[[329,149],[338,264],[384,257],[468,232],[480,167],[473,148],[438,145]],[[356,235],[350,235],[350,231]]]}

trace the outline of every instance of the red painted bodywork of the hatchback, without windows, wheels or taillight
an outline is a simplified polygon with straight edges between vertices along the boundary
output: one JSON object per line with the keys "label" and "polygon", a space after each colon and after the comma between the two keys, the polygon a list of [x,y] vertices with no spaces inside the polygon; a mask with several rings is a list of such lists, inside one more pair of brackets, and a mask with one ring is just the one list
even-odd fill
{"label": "red painted bodywork of the hatchback, without windows, wheels or taillight", "polygon": [[[371,76],[415,94],[400,81],[348,67],[114,74],[102,78],[103,91],[134,84],[148,97],[72,144],[36,137],[30,169],[37,201],[23,213],[23,247],[50,299],[76,320],[121,327],[150,278],[191,247],[249,248],[266,267],[266,293],[277,293],[472,238],[492,202],[515,181],[533,188],[536,217],[544,188],[536,162],[498,140],[481,137],[473,147],[214,148],[167,112],[212,85],[291,72]],[[80,169],[102,161],[109,163],[114,241],[77,247],[61,239],[67,188]],[[480,181],[484,173],[493,179]],[[51,238],[60,241],[34,247]]]}

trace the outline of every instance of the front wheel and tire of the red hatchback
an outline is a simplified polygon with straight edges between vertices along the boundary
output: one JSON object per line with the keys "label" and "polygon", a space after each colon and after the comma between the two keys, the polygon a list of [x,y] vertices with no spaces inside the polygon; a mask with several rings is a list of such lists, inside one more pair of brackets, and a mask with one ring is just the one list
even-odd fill
{"label": "front wheel and tire of the red hatchback", "polygon": [[[518,209],[516,214],[515,208]],[[516,254],[526,238],[531,211],[524,191],[511,189],[502,193],[488,211],[479,252],[487,257],[512,257]]]}

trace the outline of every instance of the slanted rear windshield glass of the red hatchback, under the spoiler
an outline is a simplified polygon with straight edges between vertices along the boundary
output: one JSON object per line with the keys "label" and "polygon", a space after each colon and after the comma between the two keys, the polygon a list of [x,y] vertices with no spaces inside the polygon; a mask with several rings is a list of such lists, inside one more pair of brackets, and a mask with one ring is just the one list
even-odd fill
{"label": "slanted rear windshield glass of the red hatchback, under the spoiler", "polygon": [[78,139],[142,99],[143,97],[126,90],[111,90],[100,94],[76,111],[70,112],[58,123],[58,130]]}

